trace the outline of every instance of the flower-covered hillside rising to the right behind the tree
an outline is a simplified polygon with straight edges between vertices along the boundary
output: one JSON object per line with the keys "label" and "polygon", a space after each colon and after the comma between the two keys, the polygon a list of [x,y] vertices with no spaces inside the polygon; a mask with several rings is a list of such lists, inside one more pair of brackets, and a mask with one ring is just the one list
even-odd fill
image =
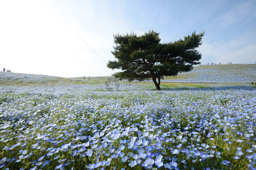
{"label": "flower-covered hillside rising to the right behind the tree", "polygon": [[196,66],[189,72],[165,77],[162,82],[251,83],[256,81],[256,64]]}

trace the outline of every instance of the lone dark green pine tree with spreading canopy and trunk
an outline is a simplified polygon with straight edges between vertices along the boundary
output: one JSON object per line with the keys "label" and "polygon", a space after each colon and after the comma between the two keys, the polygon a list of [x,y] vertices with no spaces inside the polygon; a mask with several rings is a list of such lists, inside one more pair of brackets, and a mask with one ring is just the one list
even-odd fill
{"label": "lone dark green pine tree with spreading canopy and trunk", "polygon": [[190,71],[193,65],[200,64],[201,53],[196,48],[202,44],[204,33],[196,34],[194,31],[183,40],[169,43],[160,43],[159,33],[153,30],[142,36],[118,33],[114,35],[115,46],[111,51],[117,60],[108,61],[107,67],[121,69],[113,74],[119,79],[151,77],[160,90],[163,76],[176,76],[180,71]]}

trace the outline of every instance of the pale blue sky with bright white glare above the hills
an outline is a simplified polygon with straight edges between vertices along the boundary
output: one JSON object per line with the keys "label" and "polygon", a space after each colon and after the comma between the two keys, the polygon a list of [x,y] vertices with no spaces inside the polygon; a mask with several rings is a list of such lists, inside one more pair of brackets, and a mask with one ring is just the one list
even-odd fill
{"label": "pale blue sky with bright white glare above the hills", "polygon": [[1,0],[0,69],[110,76],[113,34],[154,30],[161,42],[205,31],[201,63],[255,64],[256,1]]}

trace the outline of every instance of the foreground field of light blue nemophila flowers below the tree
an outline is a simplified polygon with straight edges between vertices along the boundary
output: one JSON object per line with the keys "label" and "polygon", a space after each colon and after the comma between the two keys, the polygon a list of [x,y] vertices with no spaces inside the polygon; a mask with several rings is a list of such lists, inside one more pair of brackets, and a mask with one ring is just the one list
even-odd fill
{"label": "foreground field of light blue nemophila flowers below the tree", "polygon": [[0,169],[255,169],[256,89],[0,93]]}

